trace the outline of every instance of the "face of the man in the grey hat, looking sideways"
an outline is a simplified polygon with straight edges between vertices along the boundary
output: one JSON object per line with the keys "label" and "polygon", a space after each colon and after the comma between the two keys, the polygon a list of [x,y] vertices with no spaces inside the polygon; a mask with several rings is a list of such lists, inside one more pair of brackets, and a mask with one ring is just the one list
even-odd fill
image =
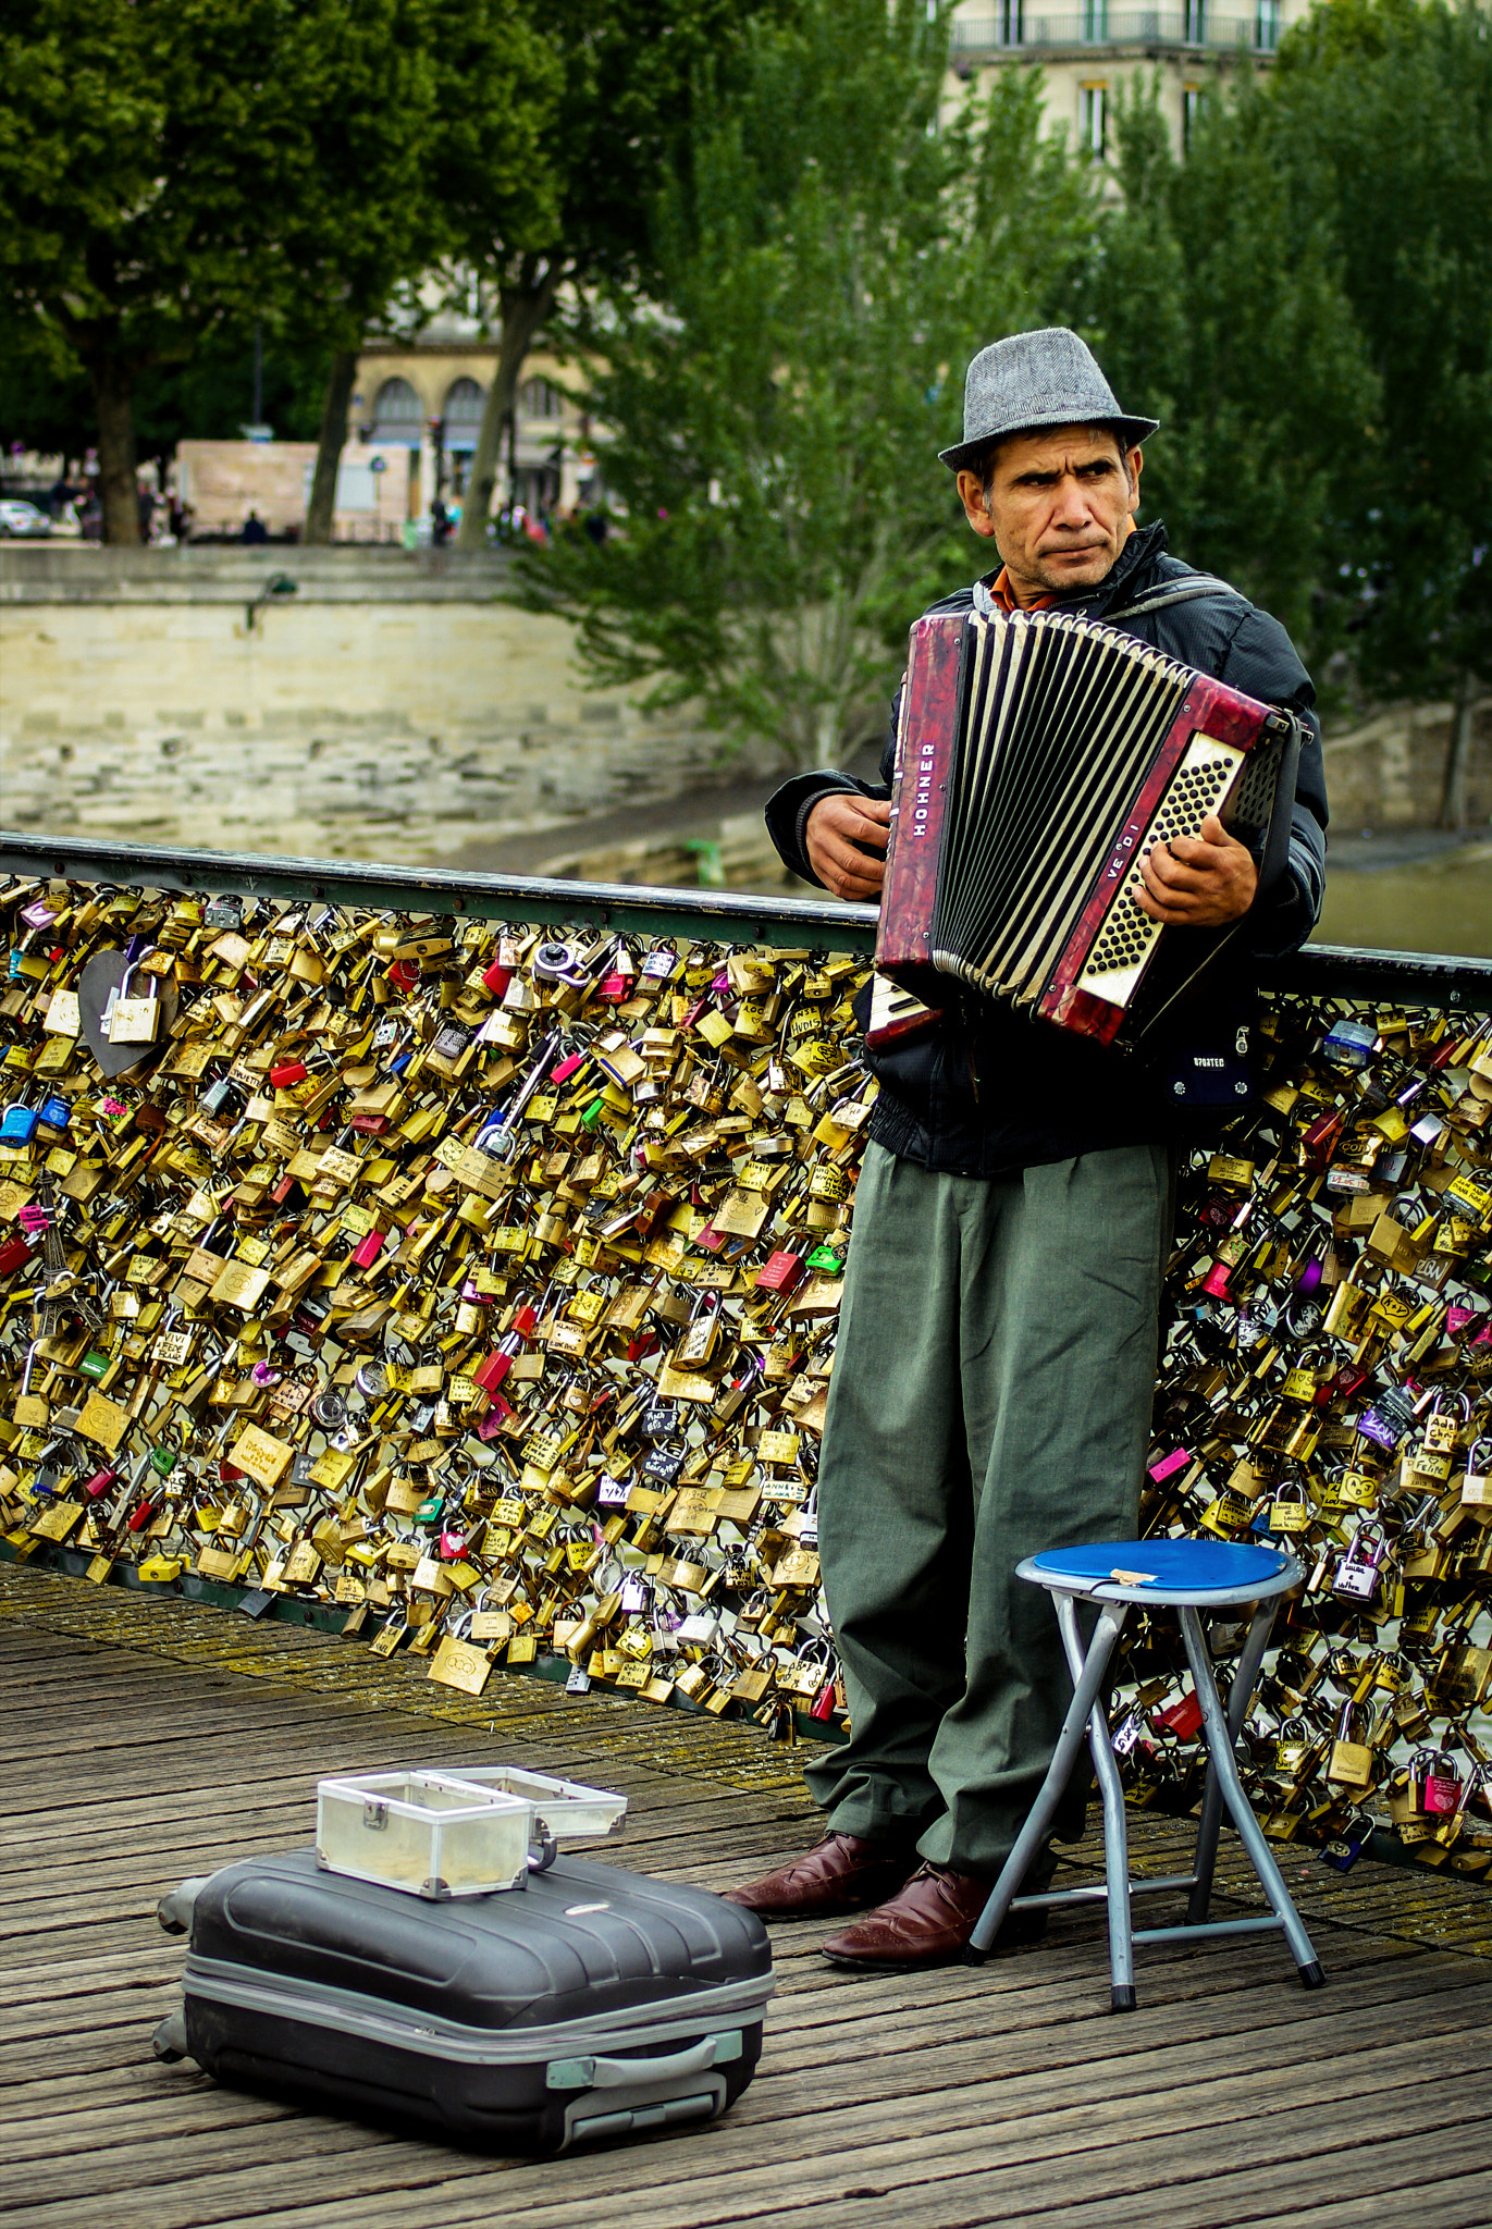
{"label": "face of the man in the grey hat, looking sideways", "polygon": [[[1124,466],[1128,464],[1128,473]],[[1104,580],[1140,508],[1140,450],[1113,432],[1053,426],[1001,441],[988,495],[959,473],[968,524],[995,542],[1017,597],[1070,595]]]}

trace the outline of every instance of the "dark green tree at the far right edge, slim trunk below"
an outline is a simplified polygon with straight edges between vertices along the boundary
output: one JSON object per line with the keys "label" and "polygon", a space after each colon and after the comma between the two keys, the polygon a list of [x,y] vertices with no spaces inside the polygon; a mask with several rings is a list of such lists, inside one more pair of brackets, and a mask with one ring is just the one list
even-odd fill
{"label": "dark green tree at the far right edge, slim trunk below", "polygon": [[1327,205],[1380,388],[1336,577],[1354,660],[1452,698],[1441,818],[1465,825],[1476,689],[1492,684],[1492,13],[1334,0],[1280,51],[1276,145]]}

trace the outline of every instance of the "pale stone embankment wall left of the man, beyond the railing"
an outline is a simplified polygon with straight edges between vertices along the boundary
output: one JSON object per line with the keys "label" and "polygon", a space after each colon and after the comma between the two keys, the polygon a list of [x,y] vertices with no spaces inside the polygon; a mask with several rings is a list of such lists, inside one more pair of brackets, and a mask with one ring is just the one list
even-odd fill
{"label": "pale stone embankment wall left of the man, beyond the railing", "polygon": [[[272,575],[297,595],[248,606]],[[0,551],[0,818],[422,863],[716,776],[718,736],[584,689],[504,559]]]}

